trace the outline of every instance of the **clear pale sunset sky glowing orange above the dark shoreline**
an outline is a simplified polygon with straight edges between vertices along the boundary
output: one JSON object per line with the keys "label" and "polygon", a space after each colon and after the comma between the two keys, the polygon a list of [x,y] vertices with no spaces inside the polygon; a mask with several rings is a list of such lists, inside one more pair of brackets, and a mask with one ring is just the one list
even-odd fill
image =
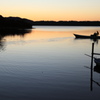
{"label": "clear pale sunset sky glowing orange above the dark shoreline", "polygon": [[0,14],[33,21],[100,21],[100,0],[0,0]]}

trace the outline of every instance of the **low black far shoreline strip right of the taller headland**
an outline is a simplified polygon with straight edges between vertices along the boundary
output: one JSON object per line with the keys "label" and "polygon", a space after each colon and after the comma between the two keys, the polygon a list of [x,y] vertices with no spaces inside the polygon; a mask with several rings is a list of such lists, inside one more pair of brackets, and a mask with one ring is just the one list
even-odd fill
{"label": "low black far shoreline strip right of the taller headland", "polygon": [[40,26],[100,26],[100,21],[33,21]]}

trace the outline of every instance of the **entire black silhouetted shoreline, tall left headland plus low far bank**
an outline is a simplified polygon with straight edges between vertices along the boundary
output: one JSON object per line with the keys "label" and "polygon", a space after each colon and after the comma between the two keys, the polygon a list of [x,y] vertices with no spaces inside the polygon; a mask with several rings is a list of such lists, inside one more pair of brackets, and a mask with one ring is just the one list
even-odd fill
{"label": "entire black silhouetted shoreline, tall left headland plus low far bank", "polygon": [[41,26],[100,26],[100,21],[33,21],[20,17],[3,17],[0,15],[0,27],[32,28]]}

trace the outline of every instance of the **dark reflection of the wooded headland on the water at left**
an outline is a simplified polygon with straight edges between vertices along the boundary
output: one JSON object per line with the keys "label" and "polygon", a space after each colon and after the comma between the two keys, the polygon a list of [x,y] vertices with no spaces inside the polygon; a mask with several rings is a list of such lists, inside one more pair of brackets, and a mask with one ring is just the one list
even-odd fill
{"label": "dark reflection of the wooded headland on the water at left", "polygon": [[6,36],[21,36],[24,37],[25,34],[30,33],[31,29],[18,29],[18,28],[2,28],[0,29],[0,51],[5,50]]}

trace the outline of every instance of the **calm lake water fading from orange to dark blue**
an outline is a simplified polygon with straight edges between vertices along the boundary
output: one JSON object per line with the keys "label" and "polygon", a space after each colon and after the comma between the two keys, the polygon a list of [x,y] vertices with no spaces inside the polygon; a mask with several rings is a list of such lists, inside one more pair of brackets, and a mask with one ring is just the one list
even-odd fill
{"label": "calm lake water fading from orange to dark blue", "polygon": [[[100,74],[93,71],[93,40],[75,39],[100,27],[34,26],[25,36],[0,41],[0,100],[99,100]],[[100,41],[95,42],[100,53]],[[95,66],[95,64],[94,64]]]}

